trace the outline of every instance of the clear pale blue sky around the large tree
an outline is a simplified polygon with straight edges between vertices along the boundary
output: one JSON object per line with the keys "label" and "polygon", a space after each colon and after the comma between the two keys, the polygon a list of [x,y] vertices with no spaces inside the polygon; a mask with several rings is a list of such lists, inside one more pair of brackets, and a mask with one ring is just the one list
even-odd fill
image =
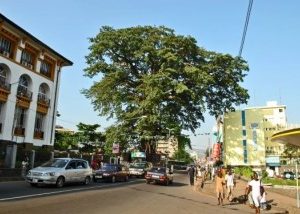
{"label": "clear pale blue sky around the large tree", "polygon": [[[36,38],[71,60],[62,70],[57,124],[76,130],[79,122],[111,122],[94,112],[80,90],[94,79],[83,76],[87,67],[88,38],[101,26],[114,28],[161,26],[192,36],[207,50],[237,56],[248,0],[0,0],[0,12]],[[250,99],[244,107],[277,101],[287,106],[288,123],[300,123],[300,1],[254,0],[242,57],[248,72],[242,86]],[[205,149],[214,119],[190,135],[194,148]],[[188,133],[190,134],[190,133]]]}

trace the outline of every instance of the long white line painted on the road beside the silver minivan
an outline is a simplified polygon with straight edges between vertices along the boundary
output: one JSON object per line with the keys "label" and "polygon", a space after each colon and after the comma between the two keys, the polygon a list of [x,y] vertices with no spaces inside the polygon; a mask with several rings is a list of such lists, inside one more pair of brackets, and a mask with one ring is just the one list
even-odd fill
{"label": "long white line painted on the road beside the silver minivan", "polygon": [[[134,180],[134,181],[128,181],[127,183],[138,183],[137,181],[140,180]],[[16,200],[16,199],[24,199],[24,198],[31,198],[36,196],[45,196],[45,195],[55,195],[58,193],[67,193],[67,192],[75,192],[79,190],[89,190],[89,189],[102,189],[106,187],[111,186],[120,186],[124,183],[114,183],[114,184],[107,184],[102,186],[92,186],[92,187],[82,187],[82,188],[76,188],[76,189],[68,189],[68,190],[61,190],[61,191],[54,191],[54,192],[45,192],[45,193],[39,193],[39,194],[32,194],[32,195],[23,195],[23,196],[16,196],[16,197],[10,197],[10,198],[1,198],[0,201],[10,201],[10,200]]]}

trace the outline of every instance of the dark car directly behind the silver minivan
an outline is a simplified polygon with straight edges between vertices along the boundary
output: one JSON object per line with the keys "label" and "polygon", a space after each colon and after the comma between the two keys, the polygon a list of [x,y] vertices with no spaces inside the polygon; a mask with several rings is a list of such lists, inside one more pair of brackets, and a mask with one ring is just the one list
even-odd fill
{"label": "dark car directly behind the silver minivan", "polygon": [[129,171],[120,164],[104,164],[101,169],[95,170],[94,181],[106,180],[115,183],[116,181],[128,181]]}

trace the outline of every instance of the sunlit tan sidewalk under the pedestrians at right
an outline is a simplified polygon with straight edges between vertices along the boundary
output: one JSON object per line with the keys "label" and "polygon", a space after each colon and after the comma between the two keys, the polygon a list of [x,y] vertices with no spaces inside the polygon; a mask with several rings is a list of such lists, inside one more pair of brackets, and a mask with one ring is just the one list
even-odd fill
{"label": "sunlit tan sidewalk under the pedestrians at right", "polygon": [[[216,197],[215,192],[215,183],[213,181],[206,181],[204,184],[203,189],[200,187],[200,179],[195,182],[195,191],[199,191],[204,194],[211,195],[213,197]],[[243,180],[237,180],[236,187],[234,189],[234,197],[238,197],[245,194],[245,188],[247,183]],[[300,209],[296,207],[296,199],[291,198],[285,195],[282,195],[280,193],[272,192],[271,188],[266,188],[267,193],[267,201],[271,205],[270,210],[262,210],[261,213],[289,213],[289,214],[300,214]],[[234,204],[237,202],[229,202],[226,199],[224,200],[225,204]],[[245,206],[248,206],[246,204]],[[249,206],[248,206],[249,207]],[[251,208],[249,207],[249,211]],[[253,209],[253,213],[255,213]]]}

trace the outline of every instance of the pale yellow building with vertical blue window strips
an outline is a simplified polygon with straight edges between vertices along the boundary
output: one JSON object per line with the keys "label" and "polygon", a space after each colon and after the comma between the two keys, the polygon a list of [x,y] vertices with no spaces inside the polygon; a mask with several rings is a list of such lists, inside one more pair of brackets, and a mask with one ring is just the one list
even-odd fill
{"label": "pale yellow building with vertical blue window strips", "polygon": [[286,127],[286,106],[246,108],[224,115],[224,164],[278,167],[284,147],[271,136]]}

